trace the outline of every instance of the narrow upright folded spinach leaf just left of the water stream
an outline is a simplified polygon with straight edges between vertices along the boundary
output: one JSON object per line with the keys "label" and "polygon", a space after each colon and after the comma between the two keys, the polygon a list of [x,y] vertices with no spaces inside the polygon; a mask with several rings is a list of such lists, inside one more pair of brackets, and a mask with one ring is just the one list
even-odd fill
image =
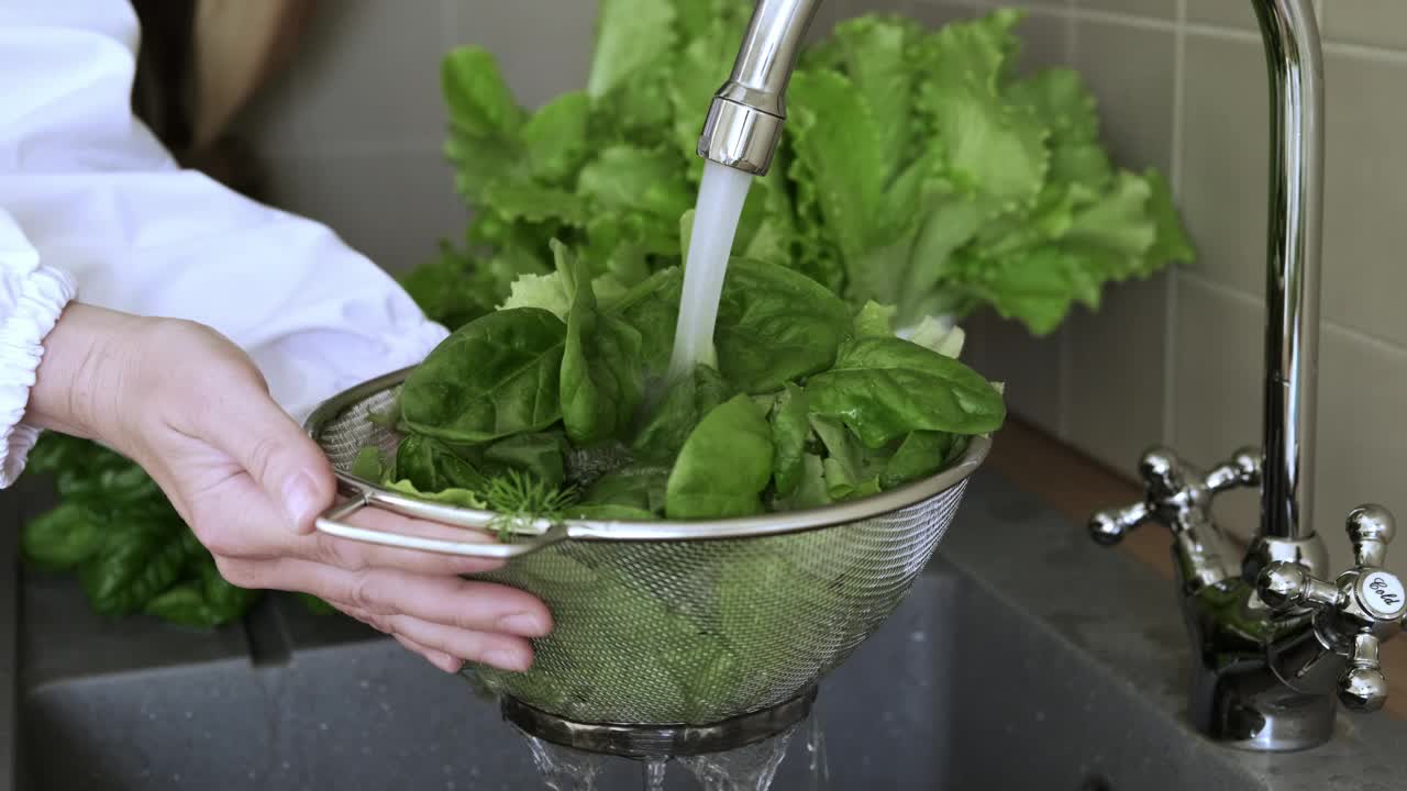
{"label": "narrow upright folded spinach leaf just left of the water stream", "polygon": [[561,357],[561,422],[577,445],[594,445],[630,425],[644,394],[640,332],[620,318],[602,315],[590,273],[553,239],[557,272],[571,294]]}

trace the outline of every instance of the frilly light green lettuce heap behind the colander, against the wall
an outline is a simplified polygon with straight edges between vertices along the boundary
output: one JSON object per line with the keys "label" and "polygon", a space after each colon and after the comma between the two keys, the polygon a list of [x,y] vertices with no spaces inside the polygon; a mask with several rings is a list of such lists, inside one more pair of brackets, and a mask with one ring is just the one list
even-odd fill
{"label": "frilly light green lettuce heap behind the colander, against the wall", "polygon": [[[446,56],[446,152],[474,220],[407,289],[453,328],[525,298],[564,315],[564,283],[528,296],[546,286],[530,276],[552,272],[553,238],[590,262],[581,277],[598,298],[678,266],[702,113],[750,11],[602,0],[587,89],[536,111],[488,52]],[[872,14],[805,51],[733,253],[798,270],[854,310],[893,305],[900,327],[989,305],[1038,335],[1075,303],[1097,307],[1109,283],[1190,262],[1166,183],[1110,162],[1079,76],[1017,72],[1023,15],[930,31]]]}

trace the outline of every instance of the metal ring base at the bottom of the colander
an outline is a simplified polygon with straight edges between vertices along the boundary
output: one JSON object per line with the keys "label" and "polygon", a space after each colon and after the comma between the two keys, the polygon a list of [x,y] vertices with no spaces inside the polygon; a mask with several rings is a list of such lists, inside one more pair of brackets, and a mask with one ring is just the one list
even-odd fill
{"label": "metal ring base at the bottom of the colander", "polygon": [[768,739],[810,715],[816,687],[789,701],[712,725],[573,722],[504,695],[504,719],[554,745],[628,759],[722,753]]}

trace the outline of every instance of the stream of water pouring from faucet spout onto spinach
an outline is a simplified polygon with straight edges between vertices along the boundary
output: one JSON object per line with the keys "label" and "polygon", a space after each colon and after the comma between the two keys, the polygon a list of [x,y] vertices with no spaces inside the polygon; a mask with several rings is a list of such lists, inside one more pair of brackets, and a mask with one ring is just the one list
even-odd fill
{"label": "stream of water pouring from faucet spout onto spinach", "polygon": [[727,256],[743,214],[747,187],[753,176],[718,162],[704,163],[704,183],[694,210],[689,252],[684,259],[684,294],[680,297],[680,322],[674,331],[674,355],[670,380],[688,374],[699,363],[716,365],[713,322],[723,294]]}

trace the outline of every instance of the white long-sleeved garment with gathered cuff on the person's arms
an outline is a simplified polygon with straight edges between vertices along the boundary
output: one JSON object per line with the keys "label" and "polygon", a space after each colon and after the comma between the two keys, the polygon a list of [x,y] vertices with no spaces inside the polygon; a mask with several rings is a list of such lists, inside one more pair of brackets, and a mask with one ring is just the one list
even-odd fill
{"label": "white long-sleeved garment with gathered cuff on the person's arms", "polygon": [[0,0],[0,487],[34,443],[39,342],[75,284],[214,327],[300,419],[446,335],[326,227],[180,169],[131,113],[136,41],[127,0]]}

